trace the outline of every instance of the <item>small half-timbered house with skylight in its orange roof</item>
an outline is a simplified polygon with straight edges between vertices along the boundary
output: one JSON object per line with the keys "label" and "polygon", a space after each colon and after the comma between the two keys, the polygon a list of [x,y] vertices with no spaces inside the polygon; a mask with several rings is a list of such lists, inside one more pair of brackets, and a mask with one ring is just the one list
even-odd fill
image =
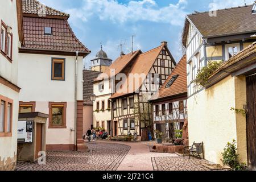
{"label": "small half-timbered house with skylight in its orange roof", "polygon": [[187,59],[184,55],[150,102],[154,129],[173,139],[187,119]]}

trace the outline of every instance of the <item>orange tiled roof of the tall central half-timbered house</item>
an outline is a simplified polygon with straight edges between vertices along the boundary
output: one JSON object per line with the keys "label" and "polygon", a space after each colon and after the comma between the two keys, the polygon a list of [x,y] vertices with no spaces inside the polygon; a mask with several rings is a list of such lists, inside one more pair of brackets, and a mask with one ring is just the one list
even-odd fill
{"label": "orange tiled roof of the tall central half-timbered house", "polygon": [[[129,75],[127,76],[128,80],[132,80],[131,75],[134,74],[142,74],[144,73],[147,75],[150,72],[150,69],[152,68],[153,64],[155,63],[156,58],[158,57],[160,51],[163,49],[165,45],[162,44],[162,46],[156,47],[150,51],[141,53],[137,57],[135,57],[135,61],[133,66],[131,67],[131,70],[129,71]],[[127,93],[115,93],[110,98],[117,98],[122,97],[130,93],[136,92],[139,88],[141,88],[141,85],[144,80],[139,80],[139,84],[135,85],[135,80],[133,81],[133,85],[129,85],[129,81],[127,81]],[[118,91],[118,90],[117,90]]]}

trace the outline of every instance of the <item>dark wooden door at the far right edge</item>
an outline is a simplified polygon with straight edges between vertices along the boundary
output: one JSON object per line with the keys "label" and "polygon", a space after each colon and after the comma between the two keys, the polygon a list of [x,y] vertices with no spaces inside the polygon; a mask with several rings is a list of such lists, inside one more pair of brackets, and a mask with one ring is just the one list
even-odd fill
{"label": "dark wooden door at the far right edge", "polygon": [[246,78],[247,94],[247,154],[249,167],[256,170],[256,75]]}

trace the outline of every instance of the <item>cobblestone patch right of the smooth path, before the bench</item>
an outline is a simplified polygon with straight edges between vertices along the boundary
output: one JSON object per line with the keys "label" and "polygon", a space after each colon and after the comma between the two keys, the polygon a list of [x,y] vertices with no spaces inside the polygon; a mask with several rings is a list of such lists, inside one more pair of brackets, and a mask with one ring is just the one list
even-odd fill
{"label": "cobblestone patch right of the smooth path, before the bench", "polygon": [[209,171],[203,166],[209,162],[188,156],[152,158],[152,164],[155,171]]}

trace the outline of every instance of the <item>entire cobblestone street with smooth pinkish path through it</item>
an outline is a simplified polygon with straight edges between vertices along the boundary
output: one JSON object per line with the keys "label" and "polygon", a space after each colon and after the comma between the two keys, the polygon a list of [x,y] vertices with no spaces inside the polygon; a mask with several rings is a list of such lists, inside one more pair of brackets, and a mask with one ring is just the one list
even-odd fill
{"label": "entire cobblestone street with smooth pinkish path through it", "polygon": [[17,171],[209,171],[206,160],[150,152],[147,142],[90,142],[89,152],[47,152],[46,165],[18,162]]}

